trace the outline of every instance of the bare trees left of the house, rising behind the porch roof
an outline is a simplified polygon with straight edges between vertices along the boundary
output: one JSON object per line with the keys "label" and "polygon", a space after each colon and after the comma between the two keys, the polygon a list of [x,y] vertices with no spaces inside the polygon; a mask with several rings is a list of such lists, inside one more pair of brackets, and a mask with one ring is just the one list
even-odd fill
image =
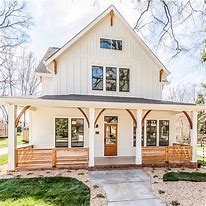
{"label": "bare trees left of the house, rising behind the porch roof", "polygon": [[[1,96],[29,96],[37,95],[40,80],[34,74],[36,59],[33,53],[27,53],[25,49],[16,57],[7,54],[6,61],[0,70],[0,95]],[[0,107],[4,119],[7,121],[6,108]]]}

